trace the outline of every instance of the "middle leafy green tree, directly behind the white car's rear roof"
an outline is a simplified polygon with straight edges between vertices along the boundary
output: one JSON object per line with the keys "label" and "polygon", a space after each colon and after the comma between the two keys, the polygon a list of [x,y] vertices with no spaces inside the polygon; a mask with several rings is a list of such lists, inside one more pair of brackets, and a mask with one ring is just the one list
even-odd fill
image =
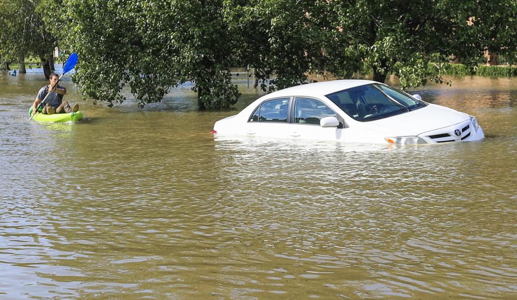
{"label": "middle leafy green tree, directly behind the white car's rear roof", "polygon": [[254,68],[264,91],[302,84],[308,73],[322,73],[322,28],[311,12],[323,2],[226,1],[225,18],[239,39],[239,62]]}

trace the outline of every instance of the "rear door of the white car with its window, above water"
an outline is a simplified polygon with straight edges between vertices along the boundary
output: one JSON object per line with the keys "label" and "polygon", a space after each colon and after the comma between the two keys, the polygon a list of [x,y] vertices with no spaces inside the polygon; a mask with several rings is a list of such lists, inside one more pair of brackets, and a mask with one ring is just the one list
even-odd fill
{"label": "rear door of the white car with its window, above water", "polygon": [[290,100],[284,97],[262,102],[248,119],[246,136],[287,139]]}

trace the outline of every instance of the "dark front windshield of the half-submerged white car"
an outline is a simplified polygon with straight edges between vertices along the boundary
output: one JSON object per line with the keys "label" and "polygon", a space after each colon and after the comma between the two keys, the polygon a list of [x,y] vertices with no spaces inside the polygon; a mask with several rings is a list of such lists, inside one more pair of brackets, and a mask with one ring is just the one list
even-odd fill
{"label": "dark front windshield of the half-submerged white car", "polygon": [[425,107],[422,101],[382,84],[361,85],[326,95],[357,121],[378,120]]}

